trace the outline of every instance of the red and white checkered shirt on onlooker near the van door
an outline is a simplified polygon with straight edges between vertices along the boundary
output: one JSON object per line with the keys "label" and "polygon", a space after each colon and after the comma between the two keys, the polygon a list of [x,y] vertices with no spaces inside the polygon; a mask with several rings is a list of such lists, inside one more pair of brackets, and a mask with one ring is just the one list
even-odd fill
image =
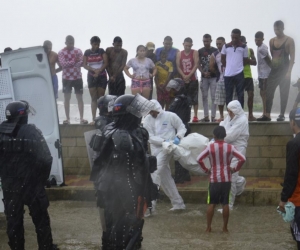
{"label": "red and white checkered shirt on onlooker near the van door", "polygon": [[80,49],[62,49],[58,52],[58,62],[63,69],[63,79],[77,80],[82,78],[81,66],[83,63],[83,54]]}

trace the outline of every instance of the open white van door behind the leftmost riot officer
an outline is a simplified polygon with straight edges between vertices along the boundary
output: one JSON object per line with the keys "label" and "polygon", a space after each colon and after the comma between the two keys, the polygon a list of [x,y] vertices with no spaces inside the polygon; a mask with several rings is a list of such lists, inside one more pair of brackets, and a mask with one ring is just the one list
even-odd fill
{"label": "open white van door behind the leftmost riot officer", "polygon": [[10,69],[14,99],[28,101],[36,110],[28,123],[42,131],[53,157],[50,178],[63,185],[59,121],[47,55],[43,47],[31,47],[2,53],[1,61],[3,68]]}

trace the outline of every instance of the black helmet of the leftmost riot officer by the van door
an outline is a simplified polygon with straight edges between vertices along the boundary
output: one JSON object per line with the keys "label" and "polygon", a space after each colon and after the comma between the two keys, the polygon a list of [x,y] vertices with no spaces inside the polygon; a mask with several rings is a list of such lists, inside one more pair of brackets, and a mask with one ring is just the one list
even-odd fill
{"label": "black helmet of the leftmost riot officer by the van door", "polygon": [[29,104],[26,101],[11,102],[6,106],[5,115],[8,121],[15,121],[28,116]]}

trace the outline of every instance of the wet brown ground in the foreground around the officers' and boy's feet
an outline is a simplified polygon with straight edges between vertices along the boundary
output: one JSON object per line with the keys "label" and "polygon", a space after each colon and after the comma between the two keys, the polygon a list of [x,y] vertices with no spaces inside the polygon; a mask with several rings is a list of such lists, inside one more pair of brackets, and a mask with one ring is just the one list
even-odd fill
{"label": "wet brown ground in the foreground around the officers' and boy's feet", "polygon": [[[276,207],[238,206],[230,214],[229,234],[222,233],[222,215],[215,213],[212,232],[205,233],[206,205],[186,204],[181,213],[158,204],[158,214],[145,219],[145,250],[282,250],[296,249]],[[100,249],[101,226],[94,202],[55,201],[49,213],[55,243],[61,250]],[[25,213],[26,250],[36,250],[36,236],[28,210]],[[8,250],[5,220],[0,215],[0,250]]]}

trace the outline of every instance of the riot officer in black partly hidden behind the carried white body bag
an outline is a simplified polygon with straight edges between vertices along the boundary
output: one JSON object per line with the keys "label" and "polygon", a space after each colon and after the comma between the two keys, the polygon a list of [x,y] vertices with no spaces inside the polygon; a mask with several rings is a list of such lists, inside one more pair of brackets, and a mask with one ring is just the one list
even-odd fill
{"label": "riot officer in black partly hidden behind the carried white body bag", "polygon": [[[173,79],[171,81],[177,81],[178,86],[181,86],[181,79]],[[174,83],[176,85],[176,83]],[[170,84],[172,85],[172,84]],[[172,86],[173,89],[174,86]],[[176,89],[175,89],[176,90]],[[191,120],[191,101],[187,97],[185,93],[184,87],[179,87],[179,90],[176,92],[176,96],[174,101],[171,103],[169,111],[175,113],[179,116],[179,118],[184,123],[187,131],[185,136],[191,133],[191,128],[189,126],[189,121]],[[185,168],[183,168],[178,161],[175,161],[175,183],[184,183],[185,181],[190,181],[191,176],[189,174],[189,171]]]}

